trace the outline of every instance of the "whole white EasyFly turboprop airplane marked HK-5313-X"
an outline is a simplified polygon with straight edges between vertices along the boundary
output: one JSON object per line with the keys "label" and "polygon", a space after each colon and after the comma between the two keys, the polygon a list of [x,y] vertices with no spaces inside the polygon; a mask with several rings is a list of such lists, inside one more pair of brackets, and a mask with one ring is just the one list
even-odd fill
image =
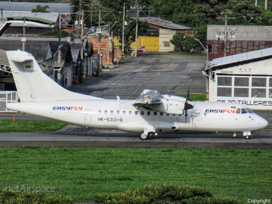
{"label": "whole white EasyFly turboprop airplane marked HK-5313-X", "polygon": [[23,51],[7,51],[21,102],[9,109],[66,123],[99,129],[140,133],[142,140],[176,131],[243,133],[265,128],[268,123],[246,105],[193,102],[186,98],[144,90],[134,100],[101,99],[59,86],[46,76],[34,57]]}

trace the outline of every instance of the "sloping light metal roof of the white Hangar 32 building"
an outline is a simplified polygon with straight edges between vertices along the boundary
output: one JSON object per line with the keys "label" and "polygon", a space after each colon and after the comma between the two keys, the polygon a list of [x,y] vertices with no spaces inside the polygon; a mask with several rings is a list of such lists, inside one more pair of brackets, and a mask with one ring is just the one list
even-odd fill
{"label": "sloping light metal roof of the white Hangar 32 building", "polygon": [[251,51],[251,52],[230,55],[227,57],[215,58],[211,62],[209,62],[208,69],[205,68],[204,70],[209,70],[209,69],[212,69],[213,67],[216,67],[216,66],[222,66],[222,65],[226,65],[226,64],[242,62],[242,61],[246,61],[246,60],[252,60],[252,59],[257,59],[260,57],[267,57],[267,56],[272,57],[272,47],[262,49],[262,50],[255,50],[255,51]]}

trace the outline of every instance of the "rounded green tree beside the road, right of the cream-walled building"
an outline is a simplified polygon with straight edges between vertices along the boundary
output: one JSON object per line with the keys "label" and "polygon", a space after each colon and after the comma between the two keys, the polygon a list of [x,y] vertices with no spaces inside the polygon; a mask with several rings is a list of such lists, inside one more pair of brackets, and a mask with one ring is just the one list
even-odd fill
{"label": "rounded green tree beside the road, right of the cream-walled building", "polygon": [[184,35],[184,33],[173,35],[173,38],[170,40],[174,46],[176,46],[180,51],[189,50],[192,48],[199,47],[199,43],[194,40],[193,37],[189,35]]}

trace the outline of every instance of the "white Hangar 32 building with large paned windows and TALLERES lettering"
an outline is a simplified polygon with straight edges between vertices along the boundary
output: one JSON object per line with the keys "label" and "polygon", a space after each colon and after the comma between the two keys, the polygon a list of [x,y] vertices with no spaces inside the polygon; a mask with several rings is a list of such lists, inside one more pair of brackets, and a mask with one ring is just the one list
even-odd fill
{"label": "white Hangar 32 building with large paned windows and TALLERES lettering", "polygon": [[271,65],[272,48],[213,59],[203,70],[209,76],[209,101],[272,110]]}

